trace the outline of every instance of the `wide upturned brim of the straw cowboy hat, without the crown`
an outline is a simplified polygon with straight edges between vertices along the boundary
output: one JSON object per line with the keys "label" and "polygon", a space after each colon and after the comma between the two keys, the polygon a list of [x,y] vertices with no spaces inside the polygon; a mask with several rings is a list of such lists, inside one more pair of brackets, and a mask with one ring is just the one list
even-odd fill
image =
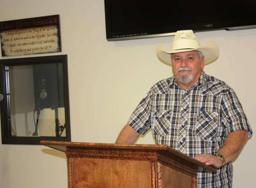
{"label": "wide upturned brim of the straw cowboy hat, without the crown", "polygon": [[204,63],[210,63],[219,56],[219,46],[214,41],[206,41],[196,49],[180,49],[166,52],[163,50],[161,45],[157,46],[157,55],[164,62],[171,64],[170,54],[179,53],[179,52],[189,52],[197,50],[202,52],[204,56]]}

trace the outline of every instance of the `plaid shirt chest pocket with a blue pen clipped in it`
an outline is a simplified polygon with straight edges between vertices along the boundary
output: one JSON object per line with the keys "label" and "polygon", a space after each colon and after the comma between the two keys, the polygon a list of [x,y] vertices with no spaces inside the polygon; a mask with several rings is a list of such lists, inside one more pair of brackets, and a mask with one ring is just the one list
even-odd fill
{"label": "plaid shirt chest pocket with a blue pen clipped in it", "polygon": [[201,111],[196,120],[196,136],[202,139],[214,138],[217,135],[218,117],[217,112]]}

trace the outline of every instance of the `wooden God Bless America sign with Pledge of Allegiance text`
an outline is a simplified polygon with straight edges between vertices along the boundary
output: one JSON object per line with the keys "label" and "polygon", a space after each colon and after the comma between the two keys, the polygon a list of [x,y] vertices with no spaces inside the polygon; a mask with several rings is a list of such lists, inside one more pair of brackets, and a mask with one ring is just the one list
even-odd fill
{"label": "wooden God Bless America sign with Pledge of Allegiance text", "polygon": [[59,15],[0,22],[2,56],[61,52]]}

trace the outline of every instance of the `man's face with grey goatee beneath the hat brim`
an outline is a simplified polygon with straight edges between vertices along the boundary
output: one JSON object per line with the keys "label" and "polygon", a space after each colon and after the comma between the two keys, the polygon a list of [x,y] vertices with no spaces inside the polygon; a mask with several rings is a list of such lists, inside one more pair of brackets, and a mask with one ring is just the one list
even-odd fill
{"label": "man's face with grey goatee beneath the hat brim", "polygon": [[201,61],[194,51],[173,53],[171,56],[172,71],[178,84],[185,89],[190,88],[202,73],[204,57]]}

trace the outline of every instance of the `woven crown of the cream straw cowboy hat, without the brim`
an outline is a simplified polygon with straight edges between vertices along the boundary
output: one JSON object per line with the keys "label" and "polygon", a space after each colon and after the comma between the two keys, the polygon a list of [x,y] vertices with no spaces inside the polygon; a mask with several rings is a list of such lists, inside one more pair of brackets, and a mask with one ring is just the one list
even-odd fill
{"label": "woven crown of the cream straw cowboy hat, without the brim", "polygon": [[175,34],[172,41],[171,51],[181,49],[196,49],[199,46],[200,43],[192,30],[182,30]]}

